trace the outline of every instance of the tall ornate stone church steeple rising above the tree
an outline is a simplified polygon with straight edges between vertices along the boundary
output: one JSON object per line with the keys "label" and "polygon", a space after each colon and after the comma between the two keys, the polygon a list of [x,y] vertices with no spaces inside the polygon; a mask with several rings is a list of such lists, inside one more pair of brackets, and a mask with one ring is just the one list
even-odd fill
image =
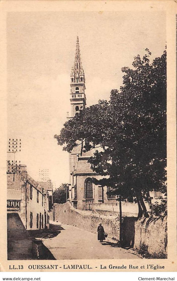
{"label": "tall ornate stone church steeple rising above the tree", "polygon": [[76,42],[74,66],[71,69],[70,86],[71,116],[69,119],[73,118],[76,113],[79,113],[86,106],[85,75],[80,57],[79,37],[77,37]]}

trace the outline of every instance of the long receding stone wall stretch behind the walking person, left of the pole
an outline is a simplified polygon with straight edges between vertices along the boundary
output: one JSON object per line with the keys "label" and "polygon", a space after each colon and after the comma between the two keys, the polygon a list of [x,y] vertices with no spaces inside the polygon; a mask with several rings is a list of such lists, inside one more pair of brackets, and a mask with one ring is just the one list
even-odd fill
{"label": "long receding stone wall stretch behind the walking person, left of the pole", "polygon": [[119,240],[120,225],[119,219],[115,216],[102,216],[92,211],[74,209],[70,203],[54,204],[55,221],[64,224],[74,225],[89,232],[97,233],[99,223],[102,223],[109,238]]}

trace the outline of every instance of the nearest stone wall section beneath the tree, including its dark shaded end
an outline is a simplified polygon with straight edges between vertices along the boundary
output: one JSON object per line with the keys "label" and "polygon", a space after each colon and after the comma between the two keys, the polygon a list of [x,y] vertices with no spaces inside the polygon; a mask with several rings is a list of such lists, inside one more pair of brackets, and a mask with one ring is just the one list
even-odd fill
{"label": "nearest stone wall section beneath the tree, including its dark shaded end", "polygon": [[124,217],[121,241],[146,258],[167,257],[167,218]]}

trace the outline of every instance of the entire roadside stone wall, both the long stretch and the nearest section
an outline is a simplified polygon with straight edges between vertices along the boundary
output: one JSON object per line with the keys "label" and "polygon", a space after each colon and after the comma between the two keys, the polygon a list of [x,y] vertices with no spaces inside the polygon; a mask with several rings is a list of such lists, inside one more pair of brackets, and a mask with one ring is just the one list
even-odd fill
{"label": "entire roadside stone wall, both the long stretch and the nearest section", "polygon": [[[74,209],[70,203],[54,204],[55,221],[97,233],[102,223],[109,238],[120,239],[119,217]],[[167,257],[167,218],[123,217],[122,246],[136,249],[145,258]]]}

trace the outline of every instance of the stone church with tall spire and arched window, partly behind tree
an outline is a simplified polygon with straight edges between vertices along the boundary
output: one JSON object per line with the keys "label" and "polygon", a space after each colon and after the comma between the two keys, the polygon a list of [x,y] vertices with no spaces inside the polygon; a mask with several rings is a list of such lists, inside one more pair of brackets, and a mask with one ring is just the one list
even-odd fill
{"label": "stone church with tall spire and arched window, partly behind tree", "polygon": [[[86,106],[85,75],[81,63],[79,38],[77,37],[74,66],[71,69],[71,115],[72,119],[79,110]],[[92,210],[93,205],[99,203],[117,203],[114,195],[108,196],[107,187],[94,185],[91,178],[100,179],[101,176],[93,172],[88,163],[89,157],[93,156],[92,151],[81,154],[81,143],[69,153],[70,184],[69,201],[72,206],[82,210]]]}

